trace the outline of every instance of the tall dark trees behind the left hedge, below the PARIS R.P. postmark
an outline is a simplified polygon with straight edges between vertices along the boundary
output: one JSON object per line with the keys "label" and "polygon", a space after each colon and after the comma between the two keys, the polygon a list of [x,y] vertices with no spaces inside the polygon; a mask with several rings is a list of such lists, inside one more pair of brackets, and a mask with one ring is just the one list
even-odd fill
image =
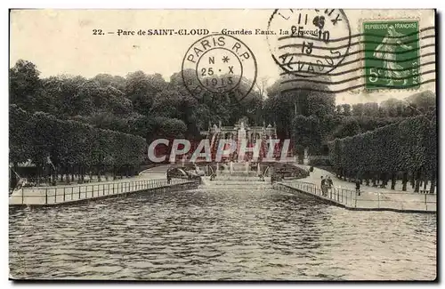
{"label": "tall dark trees behind the left hedge, below the PARIS R.P. postmark", "polygon": [[[202,101],[190,95],[181,73],[174,73],[169,82],[159,74],[142,71],[125,77],[100,74],[90,79],[66,75],[41,78],[36,66],[26,60],[17,61],[10,69],[12,104],[29,112],[43,111],[60,119],[74,119],[146,139],[168,128],[173,130],[166,135],[181,130],[182,136],[195,139],[209,122],[217,124],[221,120],[229,125],[244,115],[251,123],[262,123],[257,92],[251,92],[240,103],[232,95],[221,99],[208,92],[203,94]],[[159,127],[159,117],[171,121]]]}

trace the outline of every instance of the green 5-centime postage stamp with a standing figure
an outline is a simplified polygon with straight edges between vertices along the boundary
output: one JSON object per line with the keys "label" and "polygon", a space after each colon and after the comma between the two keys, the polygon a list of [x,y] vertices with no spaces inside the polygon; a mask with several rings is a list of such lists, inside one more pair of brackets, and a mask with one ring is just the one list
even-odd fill
{"label": "green 5-centime postage stamp with a standing figure", "polygon": [[419,87],[419,29],[417,20],[363,22],[365,87]]}

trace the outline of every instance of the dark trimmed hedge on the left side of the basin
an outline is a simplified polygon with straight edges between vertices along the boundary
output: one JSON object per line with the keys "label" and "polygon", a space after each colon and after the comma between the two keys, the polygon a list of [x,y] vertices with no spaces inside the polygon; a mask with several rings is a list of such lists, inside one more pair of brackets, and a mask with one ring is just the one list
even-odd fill
{"label": "dark trimmed hedge on the left side of the basin", "polygon": [[31,159],[42,166],[51,157],[53,165],[65,170],[140,165],[147,147],[139,136],[57,119],[43,112],[28,113],[16,105],[10,106],[9,133],[10,162]]}

